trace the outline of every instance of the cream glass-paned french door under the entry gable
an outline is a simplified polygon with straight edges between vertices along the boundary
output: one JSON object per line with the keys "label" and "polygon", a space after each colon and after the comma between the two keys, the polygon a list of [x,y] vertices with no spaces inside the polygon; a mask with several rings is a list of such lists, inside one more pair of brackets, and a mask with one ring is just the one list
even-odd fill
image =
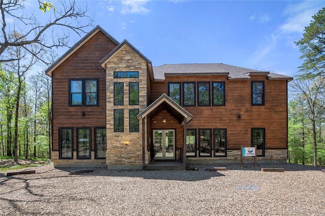
{"label": "cream glass-paned french door under the entry gable", "polygon": [[153,130],[154,160],[175,160],[175,130]]}

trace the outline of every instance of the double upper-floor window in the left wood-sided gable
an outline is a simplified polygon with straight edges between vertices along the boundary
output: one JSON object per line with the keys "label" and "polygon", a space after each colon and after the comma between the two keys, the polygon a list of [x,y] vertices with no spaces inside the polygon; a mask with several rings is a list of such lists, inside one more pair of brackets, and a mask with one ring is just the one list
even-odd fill
{"label": "double upper-floor window in the left wood-sided gable", "polygon": [[98,105],[98,79],[71,79],[69,89],[70,106]]}

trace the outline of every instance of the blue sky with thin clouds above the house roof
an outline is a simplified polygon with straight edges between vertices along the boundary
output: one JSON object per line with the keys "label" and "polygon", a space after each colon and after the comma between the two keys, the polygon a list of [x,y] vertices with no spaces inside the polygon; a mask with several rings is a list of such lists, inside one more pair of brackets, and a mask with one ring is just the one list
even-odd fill
{"label": "blue sky with thin clouds above the house roof", "polygon": [[94,25],[119,42],[128,40],[153,66],[224,63],[288,76],[303,62],[294,42],[325,6],[323,1],[77,1],[81,7],[86,3]]}

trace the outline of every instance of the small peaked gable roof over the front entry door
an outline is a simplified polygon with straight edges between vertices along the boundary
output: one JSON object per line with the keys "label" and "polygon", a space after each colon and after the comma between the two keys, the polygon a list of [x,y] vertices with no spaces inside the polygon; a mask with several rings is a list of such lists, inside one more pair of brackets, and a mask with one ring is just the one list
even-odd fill
{"label": "small peaked gable roof over the front entry door", "polygon": [[139,120],[149,115],[151,118],[159,114],[162,110],[167,110],[180,124],[186,124],[193,119],[193,116],[183,107],[179,106],[166,94],[161,95],[157,100],[140,112],[137,117]]}

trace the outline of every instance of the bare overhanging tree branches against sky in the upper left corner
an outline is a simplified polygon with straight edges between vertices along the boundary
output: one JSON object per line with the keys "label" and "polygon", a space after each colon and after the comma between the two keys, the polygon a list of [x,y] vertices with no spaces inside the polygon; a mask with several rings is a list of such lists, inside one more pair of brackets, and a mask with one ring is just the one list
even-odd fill
{"label": "bare overhanging tree branches against sky in the upper left corner", "polygon": [[[78,35],[85,33],[85,28],[92,26],[93,17],[88,16],[87,6],[80,8],[76,1],[59,0],[55,10],[46,13],[48,20],[39,19],[35,12],[26,12],[24,0],[0,0],[2,28],[0,30],[0,63],[18,60],[16,57],[5,57],[8,48],[21,47],[27,53],[43,61],[37,50],[29,49],[28,45],[35,44],[42,49],[68,47],[70,30]],[[49,6],[49,3],[40,3]],[[8,23],[8,20],[14,20]],[[20,37],[9,37],[12,32],[20,33]]]}

